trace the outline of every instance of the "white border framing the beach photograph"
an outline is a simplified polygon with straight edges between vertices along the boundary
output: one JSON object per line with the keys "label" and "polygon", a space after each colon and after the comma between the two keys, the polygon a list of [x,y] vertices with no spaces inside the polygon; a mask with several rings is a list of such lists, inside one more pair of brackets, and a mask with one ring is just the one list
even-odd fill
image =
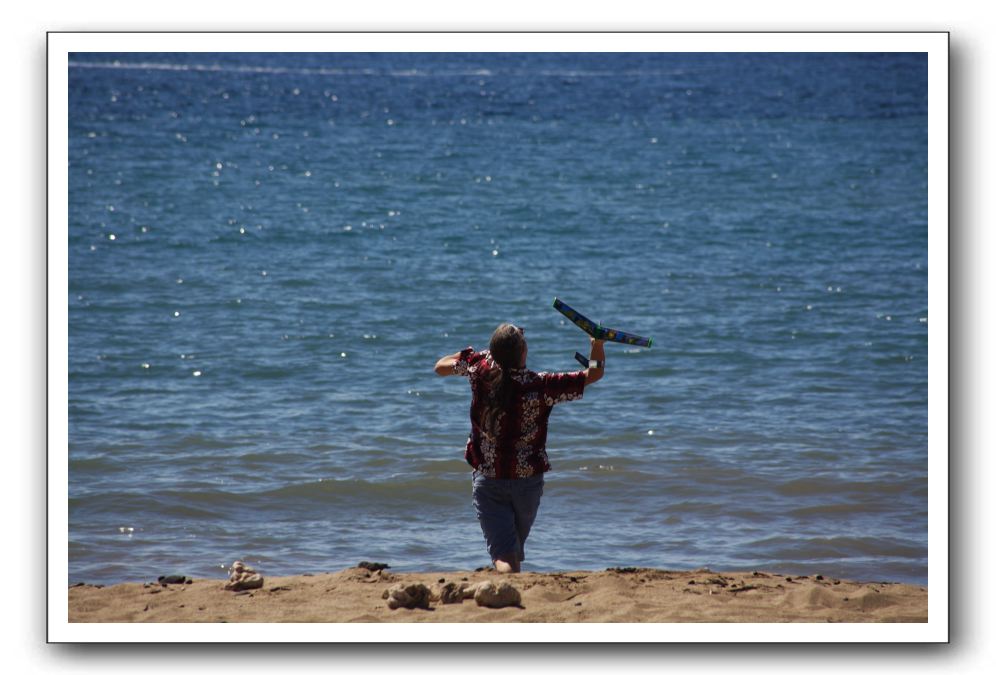
{"label": "white border framing the beach photograph", "polygon": [[474,642],[477,624],[78,624],[68,621],[70,52],[926,52],[928,54],[928,614],[923,624],[489,624],[508,642],[948,641],[948,34],[664,32],[50,33],[48,36],[48,640]]}

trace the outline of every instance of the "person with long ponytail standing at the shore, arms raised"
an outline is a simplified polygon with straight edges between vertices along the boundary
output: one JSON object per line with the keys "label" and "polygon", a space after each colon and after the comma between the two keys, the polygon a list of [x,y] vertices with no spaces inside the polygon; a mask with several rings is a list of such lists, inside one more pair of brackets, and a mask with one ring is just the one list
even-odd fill
{"label": "person with long ponytail standing at the shore, arms raised", "polygon": [[[470,437],[464,454],[474,467],[474,510],[499,572],[519,572],[524,544],[543,496],[547,422],[553,406],[584,395],[605,373],[605,343],[591,339],[589,367],[570,373],[526,368],[525,331],[503,323],[482,352],[468,347],[436,362],[440,376],[470,379]],[[594,363],[593,363],[594,362]]]}

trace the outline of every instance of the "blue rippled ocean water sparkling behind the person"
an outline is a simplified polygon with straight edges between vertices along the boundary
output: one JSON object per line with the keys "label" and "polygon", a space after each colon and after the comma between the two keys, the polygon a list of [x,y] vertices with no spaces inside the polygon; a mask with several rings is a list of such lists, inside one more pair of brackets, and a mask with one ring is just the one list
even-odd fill
{"label": "blue rippled ocean water sparkling behind the person", "polygon": [[654,338],[527,570],[927,577],[920,54],[73,54],[69,580],[489,563],[437,358]]}

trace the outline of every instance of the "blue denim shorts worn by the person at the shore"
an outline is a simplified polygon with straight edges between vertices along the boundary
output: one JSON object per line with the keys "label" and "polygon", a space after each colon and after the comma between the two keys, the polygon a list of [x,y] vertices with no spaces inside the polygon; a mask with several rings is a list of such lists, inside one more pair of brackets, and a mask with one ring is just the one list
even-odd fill
{"label": "blue denim shorts worn by the person at the shore", "polygon": [[515,554],[525,560],[526,537],[543,496],[543,474],[487,478],[474,472],[474,510],[491,560]]}

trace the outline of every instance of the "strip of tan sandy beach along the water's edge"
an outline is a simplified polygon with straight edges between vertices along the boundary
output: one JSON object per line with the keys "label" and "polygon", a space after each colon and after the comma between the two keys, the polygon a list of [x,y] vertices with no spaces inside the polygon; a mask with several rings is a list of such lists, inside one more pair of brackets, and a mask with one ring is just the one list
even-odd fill
{"label": "strip of tan sandy beach along the water's edge", "polygon": [[[69,589],[69,621],[207,623],[346,622],[925,622],[927,588],[767,572],[605,571],[340,572],[266,577],[261,588],[224,590],[224,579],[157,581]],[[517,606],[493,609],[473,597],[443,603],[447,584],[507,581]],[[427,609],[390,609],[385,591],[424,584]]]}

